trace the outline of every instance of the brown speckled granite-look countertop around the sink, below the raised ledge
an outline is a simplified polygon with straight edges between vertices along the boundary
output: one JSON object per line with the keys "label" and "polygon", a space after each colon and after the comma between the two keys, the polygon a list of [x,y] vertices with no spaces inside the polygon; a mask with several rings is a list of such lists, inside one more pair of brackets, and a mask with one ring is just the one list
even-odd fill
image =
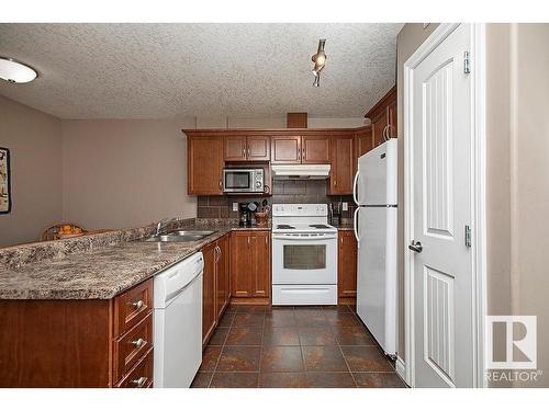
{"label": "brown speckled granite-look countertop around the sink, below the raised ledge", "polygon": [[0,270],[0,299],[110,299],[195,253],[233,230],[267,227],[197,224],[186,230],[212,230],[193,242],[128,241]]}

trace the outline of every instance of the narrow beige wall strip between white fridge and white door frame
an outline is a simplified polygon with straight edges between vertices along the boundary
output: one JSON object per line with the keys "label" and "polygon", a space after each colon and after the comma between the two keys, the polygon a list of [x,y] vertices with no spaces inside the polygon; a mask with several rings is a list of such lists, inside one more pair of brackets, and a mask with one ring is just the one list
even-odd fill
{"label": "narrow beige wall strip between white fridge and white door frame", "polygon": [[408,23],[396,37],[396,90],[397,90],[397,129],[399,129],[399,356],[404,355],[404,62],[422,43],[433,33],[438,24],[432,23],[426,28],[422,23]]}

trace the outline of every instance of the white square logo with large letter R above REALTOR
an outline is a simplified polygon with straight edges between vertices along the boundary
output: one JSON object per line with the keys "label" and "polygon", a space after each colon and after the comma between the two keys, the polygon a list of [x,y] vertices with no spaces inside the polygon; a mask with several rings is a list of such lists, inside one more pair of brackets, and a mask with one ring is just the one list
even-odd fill
{"label": "white square logo with large letter R above REALTOR", "polygon": [[486,316],[486,368],[537,368],[536,316]]}

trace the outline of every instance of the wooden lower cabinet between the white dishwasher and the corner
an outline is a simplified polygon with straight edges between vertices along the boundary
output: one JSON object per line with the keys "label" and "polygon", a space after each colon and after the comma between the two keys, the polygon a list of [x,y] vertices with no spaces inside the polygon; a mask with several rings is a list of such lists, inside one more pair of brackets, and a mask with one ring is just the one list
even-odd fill
{"label": "wooden lower cabinet between the white dishwasher and the corner", "polygon": [[229,301],[229,235],[202,248],[202,343],[212,336]]}

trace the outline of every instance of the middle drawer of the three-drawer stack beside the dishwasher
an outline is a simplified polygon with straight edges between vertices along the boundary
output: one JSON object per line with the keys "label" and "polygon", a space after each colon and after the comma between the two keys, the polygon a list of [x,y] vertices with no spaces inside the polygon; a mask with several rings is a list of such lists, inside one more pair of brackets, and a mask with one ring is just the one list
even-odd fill
{"label": "middle drawer of the three-drawer stack beside the dishwasher", "polygon": [[153,313],[114,341],[114,380],[117,381],[153,345]]}

